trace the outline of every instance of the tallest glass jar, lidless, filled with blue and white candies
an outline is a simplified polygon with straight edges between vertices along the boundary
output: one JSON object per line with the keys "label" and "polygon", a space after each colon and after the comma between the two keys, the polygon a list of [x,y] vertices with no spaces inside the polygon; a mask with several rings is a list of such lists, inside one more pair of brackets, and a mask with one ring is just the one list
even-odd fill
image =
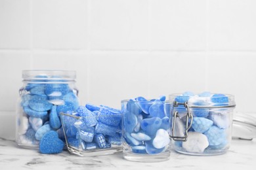
{"label": "tallest glass jar, lidless, filled with blue and white candies", "polygon": [[64,141],[60,112],[79,107],[75,71],[25,70],[16,109],[16,143],[39,148],[39,141],[50,130]]}

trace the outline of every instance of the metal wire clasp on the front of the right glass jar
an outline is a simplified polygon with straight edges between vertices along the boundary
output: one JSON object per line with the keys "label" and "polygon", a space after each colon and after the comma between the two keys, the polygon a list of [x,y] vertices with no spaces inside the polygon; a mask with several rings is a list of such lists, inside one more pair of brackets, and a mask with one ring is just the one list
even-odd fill
{"label": "metal wire clasp on the front of the right glass jar", "polygon": [[[184,103],[178,103],[177,101],[173,102],[173,107],[179,107],[179,105],[184,105],[186,110],[188,110],[188,112],[186,113],[186,130],[185,130],[184,136],[182,136],[182,137],[175,136],[176,118],[179,116],[178,111],[175,111],[173,114],[173,126],[171,128],[171,137],[173,138],[174,141],[184,141],[185,142],[188,139],[188,129],[190,129],[190,127],[192,126],[193,115],[190,112],[188,102],[184,102]],[[173,109],[173,110],[175,110],[175,109]]]}

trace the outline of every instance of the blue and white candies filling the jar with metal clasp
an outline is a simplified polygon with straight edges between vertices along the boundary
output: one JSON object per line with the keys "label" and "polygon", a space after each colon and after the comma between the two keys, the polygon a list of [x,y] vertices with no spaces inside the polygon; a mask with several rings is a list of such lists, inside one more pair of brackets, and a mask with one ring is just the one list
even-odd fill
{"label": "blue and white candies filling the jar with metal clasp", "polygon": [[[230,114],[232,110],[227,108],[211,108],[207,106],[221,107],[227,106],[228,96],[224,94],[213,94],[203,92],[194,95],[192,92],[185,92],[175,97],[175,101],[184,103],[188,101],[189,106],[205,106],[206,108],[190,108],[194,118],[192,127],[188,130],[186,142],[175,142],[175,148],[185,152],[203,153],[211,150],[221,150],[228,145],[228,135],[230,135]],[[186,129],[186,109],[180,105],[175,107],[179,112],[176,120],[175,135],[184,136]],[[175,127],[175,128],[176,128]]]}

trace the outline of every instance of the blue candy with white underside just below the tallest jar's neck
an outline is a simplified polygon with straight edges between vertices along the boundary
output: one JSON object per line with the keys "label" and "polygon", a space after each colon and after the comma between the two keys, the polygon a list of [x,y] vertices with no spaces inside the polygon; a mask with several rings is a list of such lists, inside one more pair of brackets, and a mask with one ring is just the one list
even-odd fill
{"label": "blue candy with white underside just below the tallest jar's neck", "polygon": [[46,84],[45,94],[49,96],[65,95],[69,91],[68,84]]}

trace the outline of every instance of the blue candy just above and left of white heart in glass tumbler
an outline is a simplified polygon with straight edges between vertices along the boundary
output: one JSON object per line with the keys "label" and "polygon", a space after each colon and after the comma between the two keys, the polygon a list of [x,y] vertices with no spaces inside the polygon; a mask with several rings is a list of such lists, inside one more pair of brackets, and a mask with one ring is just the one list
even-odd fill
{"label": "blue candy just above and left of white heart in glass tumbler", "polygon": [[158,117],[146,118],[140,122],[141,129],[144,130],[144,132],[151,137],[156,135],[156,131],[158,131],[160,126],[161,119]]}

